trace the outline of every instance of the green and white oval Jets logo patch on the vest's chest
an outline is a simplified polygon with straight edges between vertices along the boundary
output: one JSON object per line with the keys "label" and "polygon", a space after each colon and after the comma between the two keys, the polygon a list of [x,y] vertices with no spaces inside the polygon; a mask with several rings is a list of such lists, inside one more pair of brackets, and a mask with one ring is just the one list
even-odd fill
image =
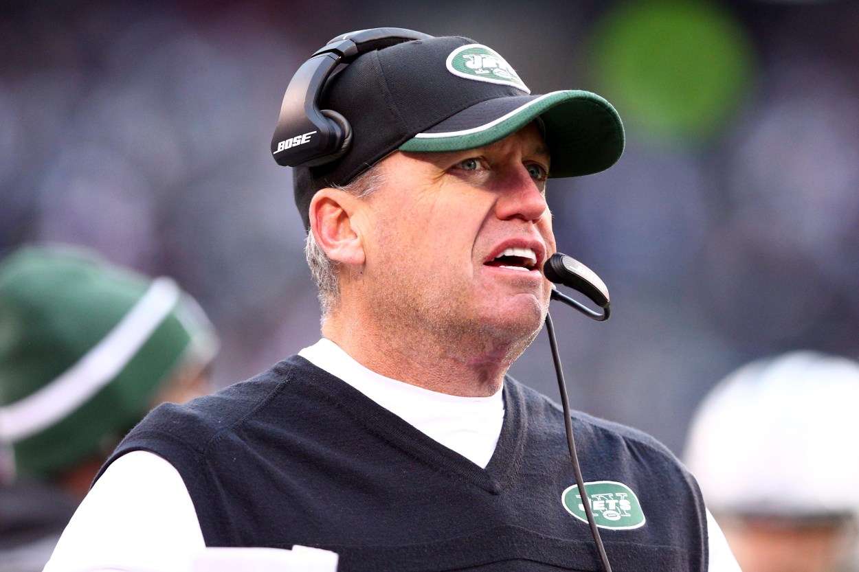
{"label": "green and white oval Jets logo patch on the vest's chest", "polygon": [[[588,492],[596,526],[616,530],[644,526],[644,512],[638,497],[625,484],[615,481],[594,481],[585,483],[585,490]],[[582,522],[588,522],[588,515],[585,514],[582,495],[579,494],[577,484],[564,490],[561,502],[567,512]]]}

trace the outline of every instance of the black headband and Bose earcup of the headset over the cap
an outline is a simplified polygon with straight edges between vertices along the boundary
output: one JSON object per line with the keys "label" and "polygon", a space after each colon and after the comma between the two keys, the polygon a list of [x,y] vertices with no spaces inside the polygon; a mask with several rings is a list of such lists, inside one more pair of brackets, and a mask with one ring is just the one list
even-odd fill
{"label": "black headband and Bose earcup of the headset over the cap", "polygon": [[335,161],[349,150],[352,129],[346,118],[320,109],[326,80],[338,65],[363,53],[433,36],[402,27],[374,27],[344,33],[330,40],[295,72],[280,107],[271,138],[271,155],[283,167],[316,167]]}

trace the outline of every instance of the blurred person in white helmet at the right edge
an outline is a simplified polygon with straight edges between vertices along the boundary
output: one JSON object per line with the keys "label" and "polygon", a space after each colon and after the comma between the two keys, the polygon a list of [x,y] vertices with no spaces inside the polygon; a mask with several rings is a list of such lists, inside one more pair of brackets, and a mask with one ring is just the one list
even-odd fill
{"label": "blurred person in white helmet at the right edge", "polygon": [[789,351],[728,374],[685,459],[745,572],[859,570],[859,362]]}

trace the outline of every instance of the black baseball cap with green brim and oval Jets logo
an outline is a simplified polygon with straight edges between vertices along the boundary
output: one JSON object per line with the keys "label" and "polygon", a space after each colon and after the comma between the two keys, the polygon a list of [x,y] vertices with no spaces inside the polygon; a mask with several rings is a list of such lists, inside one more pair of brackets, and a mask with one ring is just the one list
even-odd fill
{"label": "black baseball cap with green brim and oval Jets logo", "polygon": [[582,90],[531,94],[497,52],[459,36],[362,54],[329,79],[320,107],[349,121],[352,143],[338,161],[293,168],[295,204],[306,229],[317,191],[348,184],[398,149],[477,149],[539,118],[552,178],[598,173],[624,150],[624,127],[608,101]]}

